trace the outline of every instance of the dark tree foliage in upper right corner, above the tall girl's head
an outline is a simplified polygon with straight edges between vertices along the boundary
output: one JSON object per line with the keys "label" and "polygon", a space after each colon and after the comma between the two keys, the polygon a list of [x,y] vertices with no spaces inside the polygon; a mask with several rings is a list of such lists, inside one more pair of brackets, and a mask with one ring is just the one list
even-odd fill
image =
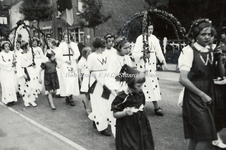
{"label": "dark tree foliage in upper right corner, above the tall girl's head", "polygon": [[[172,13],[186,28],[199,18],[209,18],[218,29],[220,26],[224,0],[145,0],[151,8],[158,8]],[[223,18],[226,26],[226,15]]]}

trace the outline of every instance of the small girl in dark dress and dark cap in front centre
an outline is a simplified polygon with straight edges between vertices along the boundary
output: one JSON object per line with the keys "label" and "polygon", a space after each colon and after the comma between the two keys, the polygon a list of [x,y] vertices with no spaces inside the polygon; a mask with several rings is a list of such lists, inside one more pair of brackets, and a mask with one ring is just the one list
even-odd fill
{"label": "small girl in dark dress and dark cap in front centre", "polygon": [[128,89],[119,92],[112,103],[116,118],[116,150],[154,150],[151,126],[143,110],[145,75],[127,65],[122,70],[126,74],[120,77],[124,76]]}

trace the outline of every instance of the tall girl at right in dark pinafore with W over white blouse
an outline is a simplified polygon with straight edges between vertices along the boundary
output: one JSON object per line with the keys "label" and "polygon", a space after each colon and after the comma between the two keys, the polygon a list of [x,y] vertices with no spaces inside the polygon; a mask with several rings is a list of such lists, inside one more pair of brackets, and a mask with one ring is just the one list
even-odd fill
{"label": "tall girl at right in dark pinafore with W over white blouse", "polygon": [[183,49],[179,58],[180,83],[185,87],[183,97],[183,123],[187,150],[207,150],[217,139],[213,118],[213,50],[209,19],[196,20],[189,37],[195,43]]}

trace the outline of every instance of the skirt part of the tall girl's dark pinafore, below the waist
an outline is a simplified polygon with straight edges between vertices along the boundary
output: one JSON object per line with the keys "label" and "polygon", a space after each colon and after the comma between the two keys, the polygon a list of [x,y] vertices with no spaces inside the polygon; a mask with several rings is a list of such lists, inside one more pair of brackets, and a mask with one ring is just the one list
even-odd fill
{"label": "skirt part of the tall girl's dark pinafore, below the waist", "polygon": [[[213,97],[213,84],[209,81],[192,81],[204,93]],[[214,102],[214,100],[213,100]],[[210,142],[217,139],[213,119],[213,103],[207,104],[185,88],[183,100],[183,123],[185,139]]]}

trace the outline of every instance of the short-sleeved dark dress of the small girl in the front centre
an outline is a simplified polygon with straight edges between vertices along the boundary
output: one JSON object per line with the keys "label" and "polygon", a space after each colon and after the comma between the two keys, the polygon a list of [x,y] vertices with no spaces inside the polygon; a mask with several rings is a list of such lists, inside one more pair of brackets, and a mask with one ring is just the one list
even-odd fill
{"label": "short-sleeved dark dress of the small girl in the front centre", "polygon": [[[127,95],[122,91],[114,99],[112,111],[123,111],[126,107],[140,108],[142,104],[145,105],[143,92]],[[145,111],[116,119],[115,141],[116,150],[154,150],[151,126]]]}

